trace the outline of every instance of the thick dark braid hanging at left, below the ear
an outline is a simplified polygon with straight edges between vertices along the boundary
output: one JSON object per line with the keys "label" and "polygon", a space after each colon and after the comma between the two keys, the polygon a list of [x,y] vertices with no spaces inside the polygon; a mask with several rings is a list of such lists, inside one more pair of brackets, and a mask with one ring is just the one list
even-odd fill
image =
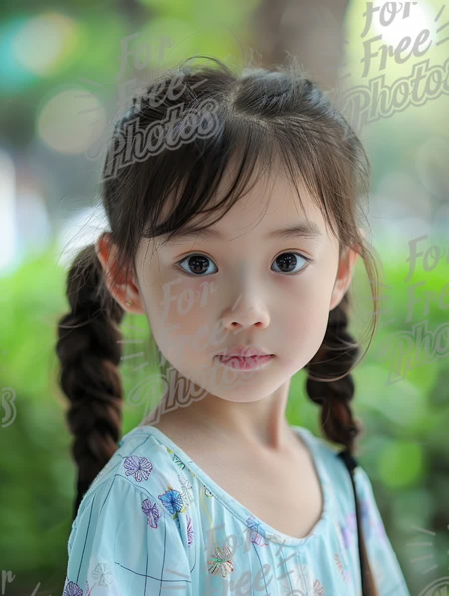
{"label": "thick dark braid hanging at left, below the ear", "polygon": [[73,517],[84,493],[117,449],[123,391],[119,324],[125,311],[103,281],[95,246],[85,247],[67,274],[70,312],[58,321],[58,382],[70,401],[67,421],[75,440],[78,485]]}

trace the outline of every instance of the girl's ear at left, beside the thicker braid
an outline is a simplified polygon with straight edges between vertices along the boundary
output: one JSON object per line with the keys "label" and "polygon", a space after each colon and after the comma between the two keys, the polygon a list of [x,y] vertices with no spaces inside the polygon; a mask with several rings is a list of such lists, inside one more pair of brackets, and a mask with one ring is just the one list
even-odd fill
{"label": "girl's ear at left, beside the thicker braid", "polygon": [[[140,291],[134,279],[134,272],[129,272],[129,277],[125,278],[125,273],[117,273],[117,247],[112,242],[110,232],[103,232],[95,241],[95,252],[103,268],[104,280],[112,294],[123,310],[137,315],[145,313]],[[115,280],[114,277],[116,276]],[[131,305],[126,304],[126,300],[132,300]]]}

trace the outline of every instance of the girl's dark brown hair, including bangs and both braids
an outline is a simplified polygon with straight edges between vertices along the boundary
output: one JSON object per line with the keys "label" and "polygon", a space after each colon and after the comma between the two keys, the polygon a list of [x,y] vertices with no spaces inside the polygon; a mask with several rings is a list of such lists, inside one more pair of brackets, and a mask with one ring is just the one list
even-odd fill
{"label": "girl's dark brown hair, including bangs and both braids", "polygon": [[[278,66],[275,71],[247,65],[237,74],[216,58],[199,58],[212,64],[193,66],[189,59],[178,70],[164,72],[134,97],[114,129],[104,162],[102,200],[112,241],[118,247],[116,274],[128,272],[132,266],[137,276],[134,258],[141,238],[169,234],[170,240],[184,231],[195,215],[205,213],[207,218],[208,213],[224,207],[224,213],[203,227],[215,224],[239,200],[255,168],[262,173],[270,171],[272,156],[277,155],[295,187],[301,179],[321,210],[339,241],[340,259],[345,258],[345,249],[356,246],[369,280],[377,282],[370,285],[374,302],[371,342],[377,324],[379,274],[376,253],[359,229],[359,213],[364,215],[361,200],[369,196],[370,181],[370,165],[361,142],[327,93],[295,63]],[[156,126],[179,105],[182,110],[175,125],[169,129]],[[201,116],[196,120],[191,117],[198,113]],[[126,162],[126,151],[137,156],[144,148],[133,128],[137,122],[140,129],[153,127],[160,150],[143,160]],[[187,135],[189,126],[195,134],[185,141],[187,137],[182,135]],[[205,128],[208,135],[203,134]],[[171,142],[184,141],[167,148],[169,138]],[[240,162],[231,190],[211,206],[234,157]],[[162,217],[172,193],[174,206]],[[299,192],[298,198],[301,202]],[[306,365],[306,391],[321,406],[321,428],[327,439],[341,443],[344,452],[352,456],[363,427],[354,420],[349,406],[354,395],[351,371],[360,343],[347,331],[348,294],[330,311],[323,344]],[[70,312],[58,321],[56,351],[60,384],[70,400],[67,420],[75,436],[73,457],[79,467],[76,514],[83,494],[117,449],[123,401],[118,340],[125,311],[107,288],[94,244],[81,250],[70,266],[67,299]],[[363,594],[376,596],[357,495],[355,501],[361,563],[366,569]]]}

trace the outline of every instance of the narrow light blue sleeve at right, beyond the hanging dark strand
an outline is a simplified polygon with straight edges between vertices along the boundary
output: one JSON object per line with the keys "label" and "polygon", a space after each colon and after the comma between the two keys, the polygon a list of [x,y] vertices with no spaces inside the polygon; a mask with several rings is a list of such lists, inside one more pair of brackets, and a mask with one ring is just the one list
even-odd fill
{"label": "narrow light blue sleeve at right, beyond the hanging dark strand", "polygon": [[362,467],[358,468],[355,478],[363,535],[379,596],[410,596],[397,555],[383,525],[370,479]]}

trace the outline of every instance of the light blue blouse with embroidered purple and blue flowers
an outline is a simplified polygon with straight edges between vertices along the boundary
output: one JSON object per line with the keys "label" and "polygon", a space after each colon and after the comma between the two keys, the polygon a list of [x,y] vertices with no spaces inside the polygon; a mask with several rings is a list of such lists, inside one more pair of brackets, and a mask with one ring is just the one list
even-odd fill
{"label": "light blue blouse with embroidered purple and blue flowers", "polygon": [[[324,439],[292,429],[309,449],[324,498],[307,536],[270,527],[159,429],[138,426],[83,496],[63,596],[361,596],[348,470]],[[369,477],[358,466],[354,479],[379,595],[410,596]],[[267,493],[278,489],[267,483]]]}

